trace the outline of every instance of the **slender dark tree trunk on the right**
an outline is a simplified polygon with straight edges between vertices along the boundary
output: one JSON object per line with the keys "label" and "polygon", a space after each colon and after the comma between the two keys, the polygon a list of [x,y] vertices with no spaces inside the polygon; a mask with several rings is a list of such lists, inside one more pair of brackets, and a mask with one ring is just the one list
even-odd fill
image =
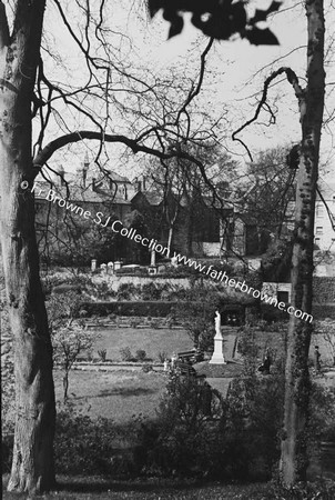
{"label": "slender dark tree trunk on the right", "polygon": [[[307,0],[307,87],[300,98],[302,148],[296,184],[295,240],[292,258],[292,304],[312,312],[314,210],[325,73],[323,0]],[[287,486],[305,480],[307,469],[308,350],[311,323],[290,318],[281,470]]]}

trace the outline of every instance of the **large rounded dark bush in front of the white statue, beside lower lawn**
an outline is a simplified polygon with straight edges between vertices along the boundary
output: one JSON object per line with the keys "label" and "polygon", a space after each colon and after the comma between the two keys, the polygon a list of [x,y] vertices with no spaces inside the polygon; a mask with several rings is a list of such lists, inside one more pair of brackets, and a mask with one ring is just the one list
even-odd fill
{"label": "large rounded dark bush in front of the white statue, beside lower lawn", "polygon": [[144,470],[154,474],[221,474],[224,449],[220,423],[222,400],[203,380],[170,374],[158,420],[142,424],[141,444],[148,450]]}

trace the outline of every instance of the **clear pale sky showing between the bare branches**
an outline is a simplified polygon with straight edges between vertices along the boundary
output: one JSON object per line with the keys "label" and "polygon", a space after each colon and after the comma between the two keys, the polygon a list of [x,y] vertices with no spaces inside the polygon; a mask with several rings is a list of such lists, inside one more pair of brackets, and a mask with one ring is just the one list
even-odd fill
{"label": "clear pale sky showing between the bare branches", "polygon": [[[251,2],[253,8],[256,8],[257,4],[266,8],[270,3],[264,0]],[[329,7],[331,0],[325,0],[325,4],[329,39],[332,36],[334,37],[335,16],[334,9]],[[59,14],[52,2],[48,3],[48,9],[45,37],[49,44],[53,43],[58,47],[63,61],[63,68],[61,64],[55,67],[54,61],[50,63],[50,73],[57,71],[57,78],[60,78],[59,74],[63,72],[64,79],[71,79],[75,74],[78,79],[81,74],[84,76],[78,49],[69,33],[61,28],[61,22],[54,22]],[[250,13],[252,14],[252,10]],[[71,22],[75,28],[74,16]],[[190,16],[185,14],[183,32],[168,40],[169,23],[162,19],[161,13],[151,21],[145,12],[134,7],[134,2],[129,3],[126,0],[113,2],[112,26],[114,30],[120,30],[125,36],[122,42],[123,53],[129,57],[130,63],[142,64],[143,68],[158,74],[174,69],[184,71],[186,78],[187,71],[191,73],[197,68],[199,48],[203,49],[207,43],[207,39],[192,27]],[[306,18],[302,2],[284,0],[282,9],[268,19],[268,27],[277,36],[280,46],[255,47],[238,38],[233,41],[216,41],[207,58],[203,92],[196,98],[199,109],[205,108],[213,116],[223,111],[226,113],[227,124],[221,138],[222,143],[242,163],[248,158],[244,148],[231,140],[231,133],[253,116],[264,79],[281,66],[290,66],[302,79],[305,76]],[[129,52],[126,51],[126,37],[132,40]],[[331,61],[326,68],[327,81],[334,82],[334,56],[328,59]],[[328,87],[328,89],[332,88]],[[293,144],[301,138],[296,98],[287,81],[277,80],[271,89],[270,102],[273,110],[276,111],[276,124],[272,127],[265,124],[268,121],[268,114],[264,111],[260,119],[261,123],[248,127],[241,134],[253,154],[261,149],[285,143]],[[335,99],[331,96],[326,101],[326,117],[332,113],[334,107]],[[73,120],[75,121],[74,114]],[[81,123],[75,122],[72,127],[80,126]],[[326,170],[334,169],[335,162],[332,128],[334,129],[333,123],[323,132],[322,162],[326,164]],[[92,144],[90,144],[91,147]],[[55,157],[54,163],[61,161],[65,163],[67,170],[77,169],[81,158],[84,157],[84,152],[81,153],[81,151],[83,151],[83,144],[71,150],[62,150],[61,154]],[[131,179],[140,173],[142,164],[136,158],[120,160],[120,150],[115,147],[109,148],[109,154],[113,170],[128,174]],[[91,159],[93,158],[92,149],[89,151],[89,156]]]}

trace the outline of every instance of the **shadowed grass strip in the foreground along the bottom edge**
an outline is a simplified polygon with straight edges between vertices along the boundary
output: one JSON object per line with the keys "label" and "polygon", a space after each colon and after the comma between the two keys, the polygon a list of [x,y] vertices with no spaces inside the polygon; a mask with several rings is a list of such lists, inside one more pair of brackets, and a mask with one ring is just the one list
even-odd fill
{"label": "shadowed grass strip in the foreground along the bottom edge", "polygon": [[[200,484],[181,480],[104,481],[101,478],[59,478],[57,492],[38,497],[58,500],[270,500],[270,487],[263,484]],[[3,499],[26,499],[26,494],[3,493]]]}

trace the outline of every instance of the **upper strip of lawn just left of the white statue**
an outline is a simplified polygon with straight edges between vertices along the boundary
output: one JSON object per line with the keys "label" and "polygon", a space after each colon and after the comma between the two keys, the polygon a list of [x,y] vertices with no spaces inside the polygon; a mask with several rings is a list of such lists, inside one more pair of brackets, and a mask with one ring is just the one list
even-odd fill
{"label": "upper strip of lawn just left of the white statue", "polygon": [[98,350],[106,349],[106,359],[121,361],[120,349],[129,347],[132,354],[143,349],[148,358],[159,361],[159,352],[171,357],[173,351],[184,351],[193,348],[193,342],[185,330],[162,328],[112,328],[92,331],[94,337],[94,357]]}

